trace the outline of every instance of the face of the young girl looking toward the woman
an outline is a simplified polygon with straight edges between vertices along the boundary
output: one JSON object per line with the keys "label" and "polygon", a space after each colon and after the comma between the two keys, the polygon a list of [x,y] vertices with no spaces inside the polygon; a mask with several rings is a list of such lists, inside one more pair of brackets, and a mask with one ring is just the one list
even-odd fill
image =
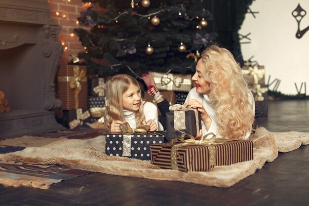
{"label": "face of the young girl looking toward the woman", "polygon": [[122,107],[124,110],[138,111],[140,109],[141,99],[140,88],[130,83],[128,90],[122,94]]}

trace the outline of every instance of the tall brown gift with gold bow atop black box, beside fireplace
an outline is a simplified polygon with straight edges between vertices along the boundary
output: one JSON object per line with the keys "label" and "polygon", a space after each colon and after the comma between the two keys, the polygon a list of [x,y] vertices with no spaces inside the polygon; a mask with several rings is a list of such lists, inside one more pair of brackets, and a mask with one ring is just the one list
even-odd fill
{"label": "tall brown gift with gold bow atop black box, beside fireplace", "polygon": [[58,69],[57,80],[58,97],[62,101],[63,124],[75,128],[89,122],[86,66],[62,65]]}

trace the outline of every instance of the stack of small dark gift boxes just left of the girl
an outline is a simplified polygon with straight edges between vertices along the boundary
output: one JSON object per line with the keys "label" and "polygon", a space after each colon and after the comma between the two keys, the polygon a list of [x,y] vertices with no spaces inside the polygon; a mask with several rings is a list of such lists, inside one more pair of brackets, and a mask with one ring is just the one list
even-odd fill
{"label": "stack of small dark gift boxes just left of the girl", "polygon": [[99,121],[101,118],[101,120],[103,120],[106,109],[105,83],[105,78],[89,78],[88,102],[91,113],[91,123]]}

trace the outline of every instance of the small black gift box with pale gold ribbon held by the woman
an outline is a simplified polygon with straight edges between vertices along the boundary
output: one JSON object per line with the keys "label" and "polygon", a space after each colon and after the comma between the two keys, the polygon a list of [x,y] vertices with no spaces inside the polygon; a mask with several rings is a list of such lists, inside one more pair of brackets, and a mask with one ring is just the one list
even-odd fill
{"label": "small black gift box with pale gold ribbon held by the woman", "polygon": [[202,128],[200,112],[189,107],[187,104],[175,104],[169,107],[166,113],[166,139],[179,138],[185,132],[195,136]]}

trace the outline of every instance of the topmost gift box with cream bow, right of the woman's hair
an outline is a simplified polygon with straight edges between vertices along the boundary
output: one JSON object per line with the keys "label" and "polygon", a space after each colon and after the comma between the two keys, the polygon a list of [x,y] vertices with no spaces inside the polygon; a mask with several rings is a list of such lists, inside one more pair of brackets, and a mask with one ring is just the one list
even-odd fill
{"label": "topmost gift box with cream bow, right of the woman's hair", "polygon": [[[256,75],[258,77],[258,84],[265,84],[265,69],[264,66],[254,66],[258,68]],[[247,82],[249,86],[254,85],[254,69],[253,66],[243,66],[241,68],[243,79]]]}

